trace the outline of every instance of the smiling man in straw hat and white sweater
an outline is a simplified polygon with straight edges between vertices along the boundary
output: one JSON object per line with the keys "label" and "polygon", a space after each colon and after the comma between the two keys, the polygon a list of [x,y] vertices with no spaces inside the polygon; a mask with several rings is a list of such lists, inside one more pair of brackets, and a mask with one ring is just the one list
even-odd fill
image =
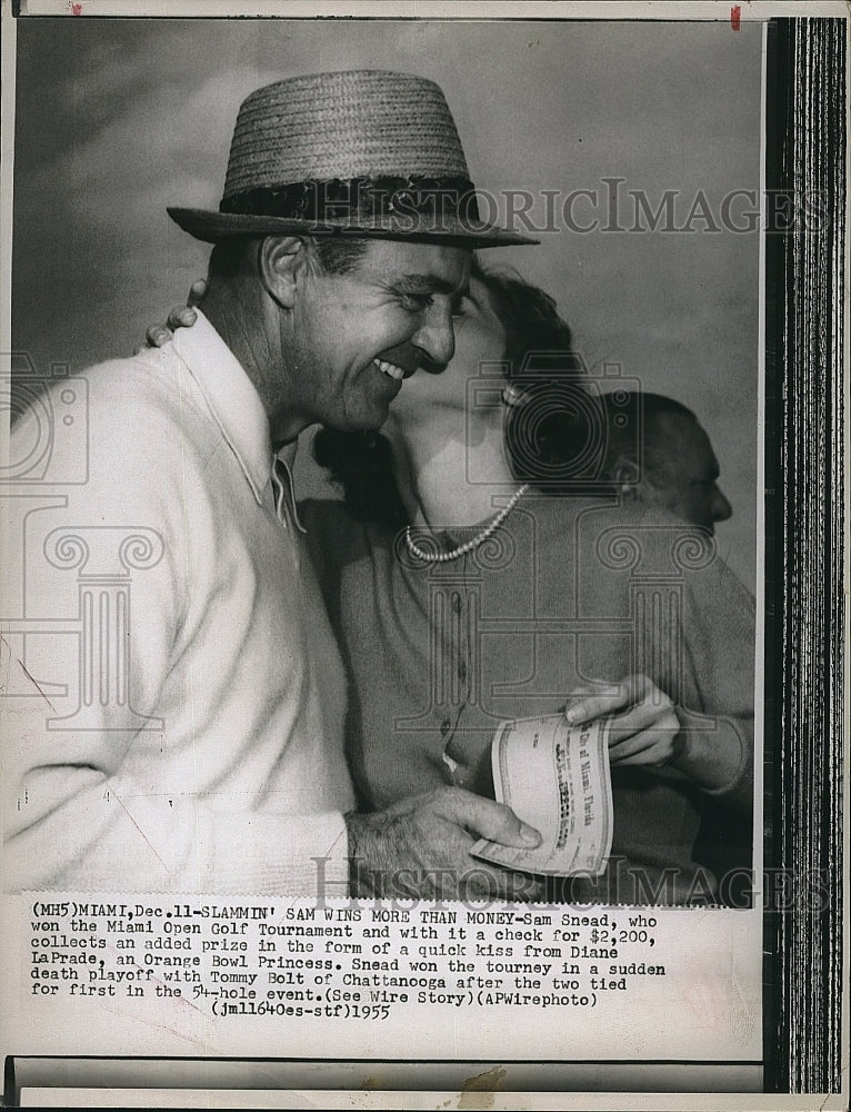
{"label": "smiling man in straw hat and white sweater", "polygon": [[290,465],[309,425],[376,428],[408,376],[440,370],[471,250],[528,240],[479,219],[441,90],[391,72],[259,89],[219,211],[169,211],[216,245],[209,292],[173,342],[88,375],[88,483],[43,515],[27,566],[42,598],[79,568],[79,705],[40,706],[9,747],[9,882],[504,893],[469,850],[537,844],[507,807],[443,790],[353,812],[343,671]]}

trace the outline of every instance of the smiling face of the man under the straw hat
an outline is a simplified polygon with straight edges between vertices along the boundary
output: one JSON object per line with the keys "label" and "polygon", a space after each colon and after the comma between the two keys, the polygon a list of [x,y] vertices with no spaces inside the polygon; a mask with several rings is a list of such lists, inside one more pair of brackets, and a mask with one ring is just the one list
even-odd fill
{"label": "smiling face of the man under the straw hat", "polygon": [[311,274],[297,307],[291,411],[306,425],[379,428],[403,379],[452,358],[471,252],[371,240],[349,274]]}

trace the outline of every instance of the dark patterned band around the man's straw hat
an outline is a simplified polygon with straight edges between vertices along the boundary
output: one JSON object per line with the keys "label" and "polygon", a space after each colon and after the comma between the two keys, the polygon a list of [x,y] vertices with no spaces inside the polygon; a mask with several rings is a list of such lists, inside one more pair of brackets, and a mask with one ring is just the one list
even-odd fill
{"label": "dark patterned band around the man's straw hat", "polygon": [[246,189],[226,197],[220,212],[307,220],[352,227],[394,220],[408,230],[451,231],[478,225],[475,186],[469,178],[310,178],[283,186]]}

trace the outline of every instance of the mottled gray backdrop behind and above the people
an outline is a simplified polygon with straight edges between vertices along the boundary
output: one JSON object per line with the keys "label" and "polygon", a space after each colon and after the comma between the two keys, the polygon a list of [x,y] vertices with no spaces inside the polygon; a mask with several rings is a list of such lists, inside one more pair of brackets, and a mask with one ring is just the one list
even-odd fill
{"label": "mottled gray backdrop behind and above the people", "polygon": [[[643,190],[653,209],[675,190],[681,225],[699,191],[718,222],[725,196],[759,189],[758,24],[40,18],[18,36],[13,347],[44,370],[129,355],[184,300],[209,248],[166,206],[218,207],[239,102],[281,77],[434,79],[489,192],[602,198],[602,179],[621,178],[622,196]],[[604,222],[601,206],[574,212]],[[619,222],[632,225],[631,206]],[[709,224],[562,229],[488,261],[557,298],[592,373],[620,364],[697,411],[734,509],[719,545],[753,588],[759,235]],[[300,460],[299,493],[317,494],[322,476],[308,450]]]}

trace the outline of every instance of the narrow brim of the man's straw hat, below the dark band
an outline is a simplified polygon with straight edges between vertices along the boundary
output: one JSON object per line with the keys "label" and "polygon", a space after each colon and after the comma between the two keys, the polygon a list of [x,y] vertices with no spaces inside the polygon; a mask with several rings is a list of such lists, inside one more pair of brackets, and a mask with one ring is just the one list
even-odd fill
{"label": "narrow brim of the man's straw hat, below the dark band", "polygon": [[168,208],[171,219],[190,236],[206,244],[218,244],[232,236],[357,236],[373,239],[406,239],[418,242],[440,242],[481,250],[485,247],[522,247],[540,244],[539,239],[521,236],[478,220],[452,224],[439,229],[419,226],[412,230],[400,221],[382,220],[371,225],[350,220],[339,224],[297,220],[278,216],[250,216],[214,212],[206,209]]}

